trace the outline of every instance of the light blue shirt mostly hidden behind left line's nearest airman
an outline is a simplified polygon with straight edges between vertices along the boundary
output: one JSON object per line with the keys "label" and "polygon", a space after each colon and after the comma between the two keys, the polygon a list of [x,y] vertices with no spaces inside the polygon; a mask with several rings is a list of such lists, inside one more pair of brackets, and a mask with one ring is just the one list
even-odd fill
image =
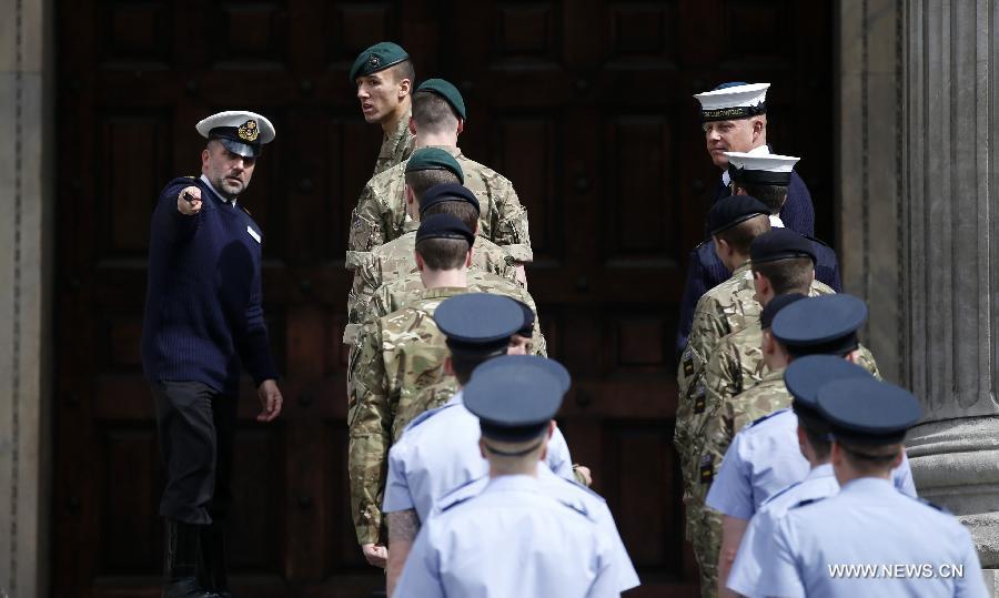
{"label": "light blue shirt mostly hidden behind left line's nearest airman", "polygon": [[[637,587],[638,574],[635,571],[628,551],[620,539],[617,531],[617,525],[614,523],[614,516],[607,507],[604,497],[591,490],[582,484],[556,476],[545,466],[539,465],[537,468],[537,480],[541,489],[546,495],[556,498],[563,503],[575,505],[577,510],[585,511],[593,519],[601,533],[610,540],[610,562],[607,568],[607,575],[613,581],[612,586],[618,591],[625,591]],[[434,507],[431,517],[446,510],[452,505],[466,500],[473,496],[478,496],[486,488],[490,476],[483,476],[478,479],[460,486],[451,493],[446,494]]]}

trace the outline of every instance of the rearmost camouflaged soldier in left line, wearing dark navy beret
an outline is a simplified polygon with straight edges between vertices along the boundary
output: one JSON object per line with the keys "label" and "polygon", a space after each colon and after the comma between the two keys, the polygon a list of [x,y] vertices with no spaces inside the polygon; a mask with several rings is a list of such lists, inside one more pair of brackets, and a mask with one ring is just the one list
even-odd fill
{"label": "rearmost camouflaged soldier in left line, wearing dark navy beret", "polygon": [[416,413],[413,403],[421,391],[446,376],[443,364],[447,347],[433,314],[445,298],[467,292],[474,240],[474,233],[453,215],[425,219],[416,233],[416,262],[424,291],[407,307],[367,321],[351,358],[351,509],[357,541],[372,565],[385,566],[380,505],[389,448],[405,427],[396,415]]}

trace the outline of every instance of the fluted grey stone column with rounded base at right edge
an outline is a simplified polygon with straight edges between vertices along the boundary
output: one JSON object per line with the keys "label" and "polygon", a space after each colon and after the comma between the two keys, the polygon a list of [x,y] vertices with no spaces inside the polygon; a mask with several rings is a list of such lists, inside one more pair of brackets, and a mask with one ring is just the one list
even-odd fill
{"label": "fluted grey stone column with rounded base at right edge", "polygon": [[904,333],[925,411],[909,456],[999,569],[999,6],[911,0],[905,19]]}

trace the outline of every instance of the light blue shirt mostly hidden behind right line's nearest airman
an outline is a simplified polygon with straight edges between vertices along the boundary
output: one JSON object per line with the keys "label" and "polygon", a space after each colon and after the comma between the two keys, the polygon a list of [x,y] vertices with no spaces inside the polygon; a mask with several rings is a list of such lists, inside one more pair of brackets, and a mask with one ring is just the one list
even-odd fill
{"label": "light blue shirt mostly hidden behind right line's nearest airman", "polygon": [[769,497],[753,516],[735,562],[728,574],[727,586],[743,596],[756,598],[761,596],[757,590],[760,569],[760,560],[774,550],[774,529],[777,521],[784,517],[788,509],[805,500],[819,500],[836,495],[839,491],[839,483],[833,473],[831,464],[819,465],[808,472],[801,482],[791,484],[787,488]]}

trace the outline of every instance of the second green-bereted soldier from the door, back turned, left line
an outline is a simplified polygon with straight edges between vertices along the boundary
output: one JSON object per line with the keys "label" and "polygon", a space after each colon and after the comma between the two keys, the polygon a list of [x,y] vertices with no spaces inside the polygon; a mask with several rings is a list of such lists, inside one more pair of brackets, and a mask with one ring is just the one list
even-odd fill
{"label": "second green-bereted soldier from the door, back turned, left line", "polygon": [[[453,155],[464,172],[464,185],[480,203],[478,236],[502,246],[518,264],[531,262],[527,212],[513,184],[497,172],[465,158],[457,146],[465,128],[465,102],[443,79],[424,81],[413,94],[410,128],[418,148],[440,148]],[[416,227],[406,215],[405,165],[395,165],[364,186],[351,222],[346,267],[356,270],[364,254]],[[524,278],[521,270],[522,280]]]}

